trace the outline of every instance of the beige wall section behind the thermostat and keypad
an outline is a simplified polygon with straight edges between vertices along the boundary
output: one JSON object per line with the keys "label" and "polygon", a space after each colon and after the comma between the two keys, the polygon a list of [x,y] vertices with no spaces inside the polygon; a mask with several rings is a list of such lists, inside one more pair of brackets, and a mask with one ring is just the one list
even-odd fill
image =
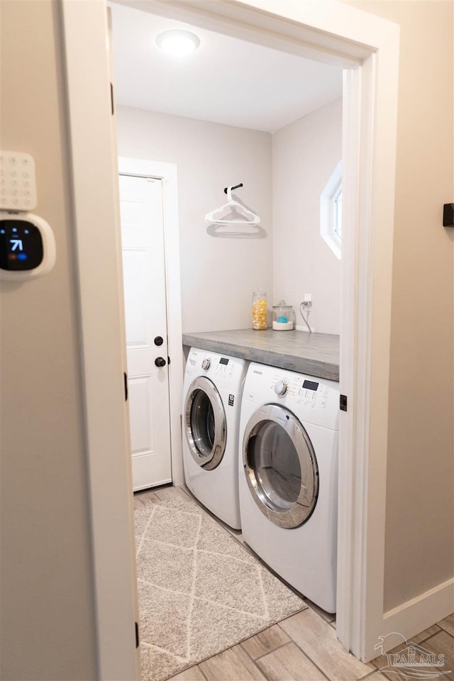
{"label": "beige wall section behind the thermostat and keypad", "polygon": [[58,4],[3,0],[1,148],[31,153],[55,269],[1,282],[1,670],[96,678]]}

